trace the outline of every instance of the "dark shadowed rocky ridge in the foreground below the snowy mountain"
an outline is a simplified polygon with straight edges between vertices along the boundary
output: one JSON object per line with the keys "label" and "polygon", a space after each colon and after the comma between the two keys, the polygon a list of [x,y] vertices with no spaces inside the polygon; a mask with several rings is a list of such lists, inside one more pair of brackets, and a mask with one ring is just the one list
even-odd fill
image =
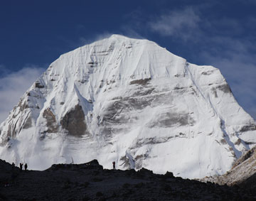
{"label": "dark shadowed rocky ridge in the foreground below the snowy mountain", "polygon": [[[252,178],[255,181],[255,178]],[[0,160],[0,200],[255,200],[253,188],[157,175],[142,168],[106,170],[94,160],[22,171]]]}

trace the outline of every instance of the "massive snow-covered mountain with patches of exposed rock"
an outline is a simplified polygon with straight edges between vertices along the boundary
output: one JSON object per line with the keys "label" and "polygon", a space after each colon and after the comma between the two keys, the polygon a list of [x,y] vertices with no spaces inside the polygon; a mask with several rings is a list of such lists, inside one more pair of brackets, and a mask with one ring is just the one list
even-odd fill
{"label": "massive snow-covered mountain with patches of exposed rock", "polygon": [[96,158],[184,178],[223,174],[256,143],[217,68],[118,35],[61,55],[0,132],[0,158],[30,168]]}

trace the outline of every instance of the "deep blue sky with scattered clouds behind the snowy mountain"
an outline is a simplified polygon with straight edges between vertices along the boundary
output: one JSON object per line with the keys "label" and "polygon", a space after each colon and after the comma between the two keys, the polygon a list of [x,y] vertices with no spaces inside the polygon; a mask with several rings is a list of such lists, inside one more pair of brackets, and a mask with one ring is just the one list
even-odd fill
{"label": "deep blue sky with scattered clouds behind the snowy mountain", "polygon": [[0,121],[61,54],[112,33],[218,67],[256,119],[256,1],[0,1]]}

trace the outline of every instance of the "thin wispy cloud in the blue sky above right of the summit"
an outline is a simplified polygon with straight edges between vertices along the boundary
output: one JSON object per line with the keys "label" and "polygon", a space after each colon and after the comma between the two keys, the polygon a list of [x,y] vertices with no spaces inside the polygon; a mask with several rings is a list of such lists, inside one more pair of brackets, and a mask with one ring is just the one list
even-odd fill
{"label": "thin wispy cloud in the blue sky above right of the summit", "polygon": [[191,36],[196,35],[199,31],[198,23],[201,18],[191,8],[180,11],[171,11],[157,18],[155,21],[149,22],[152,31],[162,36],[176,36],[187,40]]}

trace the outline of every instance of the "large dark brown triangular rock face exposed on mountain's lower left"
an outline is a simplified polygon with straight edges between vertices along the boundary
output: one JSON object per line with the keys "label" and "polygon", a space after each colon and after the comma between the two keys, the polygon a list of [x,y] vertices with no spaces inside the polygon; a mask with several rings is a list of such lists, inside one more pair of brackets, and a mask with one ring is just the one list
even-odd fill
{"label": "large dark brown triangular rock face exposed on mountain's lower left", "polygon": [[77,104],[75,109],[70,110],[60,121],[63,129],[67,129],[68,133],[73,136],[82,136],[87,133],[85,124],[85,114],[82,112],[82,107]]}

